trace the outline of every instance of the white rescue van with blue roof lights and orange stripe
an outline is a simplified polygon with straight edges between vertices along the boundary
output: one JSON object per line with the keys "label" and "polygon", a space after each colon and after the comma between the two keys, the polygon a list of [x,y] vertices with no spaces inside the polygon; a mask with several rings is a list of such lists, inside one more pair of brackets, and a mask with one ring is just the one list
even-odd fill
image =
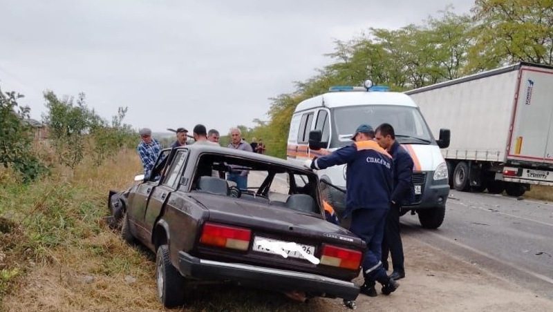
{"label": "white rescue van with blue roof lights and orange stripe", "polygon": [[[409,95],[386,92],[387,88],[382,86],[371,87],[370,81],[365,85],[368,88],[332,87],[329,92],[298,104],[290,121],[287,159],[303,164],[306,159],[352,144],[350,137],[359,124],[376,128],[387,122],[394,127],[396,140],[409,151],[414,162],[415,200],[402,207],[401,214],[416,212],[424,228],[438,228],[444,220],[449,195],[447,165],[440,152],[440,148],[449,145],[449,130],[440,129],[440,139],[435,140]],[[314,137],[321,135],[320,150],[309,148],[310,133]],[[321,183],[321,190],[330,205],[341,213],[345,208],[345,165],[317,173],[321,181],[333,185]]]}

